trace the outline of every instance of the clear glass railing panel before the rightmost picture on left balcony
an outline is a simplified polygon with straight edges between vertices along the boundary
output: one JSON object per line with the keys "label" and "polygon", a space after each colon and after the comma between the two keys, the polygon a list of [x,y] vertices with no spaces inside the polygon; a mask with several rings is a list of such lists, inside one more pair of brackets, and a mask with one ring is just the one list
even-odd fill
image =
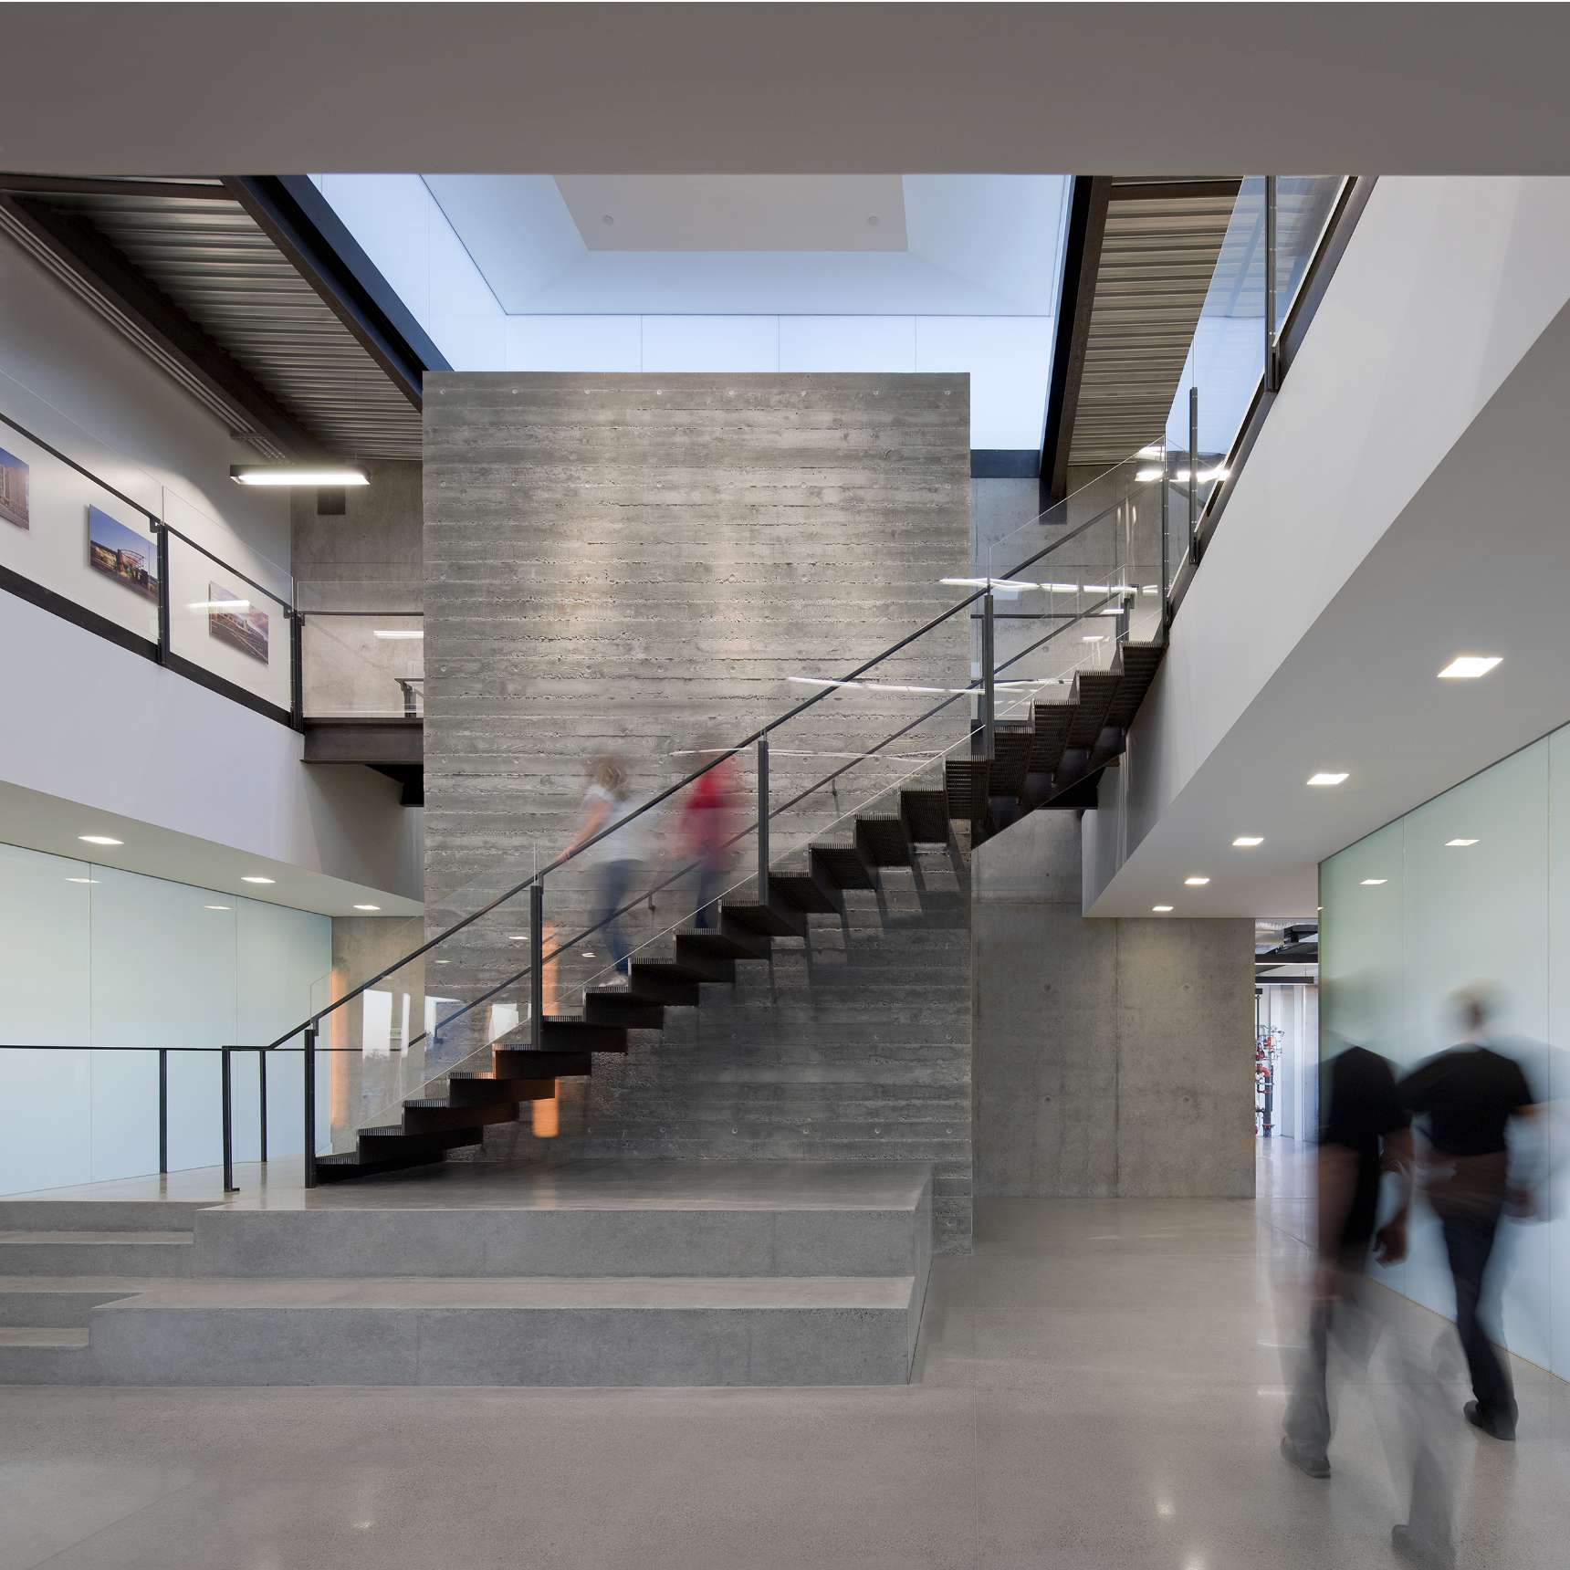
{"label": "clear glass railing panel before the rightmost picture on left balcony", "polygon": [[[170,653],[289,713],[294,637],[289,575],[270,562],[234,565],[192,543],[195,509],[166,499]],[[195,517],[193,517],[195,515]],[[174,521],[177,520],[177,521]],[[210,520],[203,532],[214,529]]]}

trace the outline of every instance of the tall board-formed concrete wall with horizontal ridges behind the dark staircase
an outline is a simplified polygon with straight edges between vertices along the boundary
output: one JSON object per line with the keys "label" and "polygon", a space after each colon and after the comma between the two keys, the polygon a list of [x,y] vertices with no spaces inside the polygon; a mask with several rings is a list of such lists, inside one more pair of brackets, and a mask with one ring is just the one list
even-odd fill
{"label": "tall board-formed concrete wall with horizontal ridges behind the dark staircase", "polygon": [[[535,856],[542,864],[557,856],[595,754],[620,754],[634,793],[661,790],[697,766],[692,749],[739,739],[810,691],[788,677],[838,677],[955,604],[961,590],[940,579],[969,575],[967,391],[962,375],[427,377],[427,920],[444,925],[515,882]],[[962,685],[970,637],[969,617],[956,615],[878,675]],[[788,799],[931,702],[862,689],[820,703],[776,738],[771,799]],[[827,832],[909,774],[923,750],[964,733],[956,703],[903,738],[895,761],[853,763],[834,791],[776,824],[776,846]],[[738,774],[750,790],[750,758]],[[929,776],[918,783],[940,779],[936,769]],[[648,854],[658,860],[669,853],[675,804],[652,823]],[[752,854],[749,842],[743,857]],[[868,955],[876,964],[904,945],[903,962],[933,967],[936,975],[912,988],[936,980],[940,1017],[898,1011],[900,962],[879,973],[874,1020],[835,1016],[827,992],[802,1008],[802,977],[791,973],[785,986],[780,969],[779,991],[749,986],[724,1027],[703,1025],[705,1006],[683,1041],[691,1046],[697,1033],[727,1041],[738,1063],[769,1057],[776,1090],[736,1093],[747,1101],[743,1146],[772,1157],[947,1162],[947,1198],[962,1199],[967,1237],[969,1008],[951,995],[966,988],[966,944],[953,928],[966,901],[953,884],[947,896],[950,909],[934,907],[929,923],[917,912],[914,929],[892,933],[889,947]],[[548,879],[546,920],[559,936],[587,914],[576,868]],[[631,923],[634,937],[683,914],[678,896],[661,898],[656,912]],[[443,989],[468,995],[499,980],[498,939],[506,940],[502,926],[521,931],[521,909],[504,907],[480,923],[471,950],[454,944]],[[845,942],[837,933],[824,940]],[[871,939],[862,933],[856,942]],[[595,961],[564,956],[548,1008],[576,1011],[575,988],[603,964],[598,948]],[[936,1053],[934,1030],[944,1036]],[[857,1038],[871,1049],[854,1049]],[[711,1047],[703,1052],[711,1068]],[[926,1075],[926,1094],[942,1080],[945,1101],[936,1118],[917,1105],[923,1075],[912,1072],[934,1055],[944,1064]],[[885,1096],[879,1075],[915,1088]],[[860,1086],[851,1097],[859,1110],[846,1102],[842,1129],[865,1124],[838,1146],[827,1129],[835,1097],[823,1090],[834,1077]],[[669,1138],[645,1138],[645,1119],[631,1107],[636,1063],[614,1096],[609,1077],[597,1069],[595,1079],[606,1088],[587,1121],[575,1101],[581,1090],[564,1082],[556,1151],[592,1123],[595,1138],[628,1151],[741,1152],[735,1119],[722,1127],[724,1118],[710,1115],[713,1094],[672,1094],[667,1085],[652,1105]],[[805,1090],[812,1085],[818,1090]],[[809,1116],[813,1097],[820,1110]],[[490,1145],[517,1151],[518,1141],[513,1130]]]}

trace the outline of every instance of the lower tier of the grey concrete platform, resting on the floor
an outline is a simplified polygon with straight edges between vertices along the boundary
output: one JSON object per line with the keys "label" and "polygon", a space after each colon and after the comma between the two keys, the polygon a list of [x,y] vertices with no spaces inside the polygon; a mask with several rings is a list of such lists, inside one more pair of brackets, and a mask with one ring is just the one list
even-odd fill
{"label": "lower tier of the grey concrete platform, resting on the floor", "polygon": [[900,1385],[923,1284],[911,1275],[168,1283],[94,1309],[86,1382]]}

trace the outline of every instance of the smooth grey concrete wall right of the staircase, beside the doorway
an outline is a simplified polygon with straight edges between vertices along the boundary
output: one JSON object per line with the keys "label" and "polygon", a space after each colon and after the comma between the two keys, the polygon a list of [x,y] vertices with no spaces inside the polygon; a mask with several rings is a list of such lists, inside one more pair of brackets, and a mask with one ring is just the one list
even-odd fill
{"label": "smooth grey concrete wall right of the staircase, beside the doorway", "polygon": [[1253,923],[1085,920],[1080,826],[975,853],[983,1196],[1253,1193]]}

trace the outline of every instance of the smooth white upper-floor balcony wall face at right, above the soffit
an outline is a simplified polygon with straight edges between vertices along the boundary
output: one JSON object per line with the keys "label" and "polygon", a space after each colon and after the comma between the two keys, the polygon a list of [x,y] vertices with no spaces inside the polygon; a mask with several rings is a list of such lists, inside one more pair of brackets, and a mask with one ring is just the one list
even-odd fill
{"label": "smooth white upper-floor balcony wall face at right, above the soffit", "polygon": [[[1126,766],[1083,820],[1086,907],[1203,787],[1198,772],[1404,513],[1422,551],[1408,507],[1565,306],[1567,251],[1567,179],[1380,179],[1179,609]],[[1557,463],[1539,458],[1535,479]],[[1482,513],[1466,526],[1487,540]],[[1477,565],[1498,573],[1490,586],[1510,578],[1499,560]],[[1385,609],[1411,606],[1386,595]]]}

